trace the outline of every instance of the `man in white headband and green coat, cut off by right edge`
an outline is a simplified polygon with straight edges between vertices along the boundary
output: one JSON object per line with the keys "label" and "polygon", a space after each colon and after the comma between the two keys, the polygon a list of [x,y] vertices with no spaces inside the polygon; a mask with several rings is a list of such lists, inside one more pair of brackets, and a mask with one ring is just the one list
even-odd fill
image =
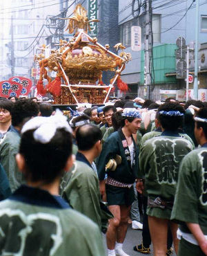
{"label": "man in white headband and green coat, cut off by right edge", "polygon": [[195,138],[201,146],[184,157],[172,208],[179,226],[178,255],[207,255],[207,108],[195,119]]}

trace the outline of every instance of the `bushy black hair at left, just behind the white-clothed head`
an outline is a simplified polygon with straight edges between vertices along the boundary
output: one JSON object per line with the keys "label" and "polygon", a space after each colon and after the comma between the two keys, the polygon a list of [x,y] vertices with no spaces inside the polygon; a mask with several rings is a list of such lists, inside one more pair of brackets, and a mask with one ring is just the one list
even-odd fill
{"label": "bushy black hair at left, just behind the white-clothed head", "polygon": [[23,125],[26,118],[32,118],[39,113],[39,106],[36,102],[29,99],[17,100],[12,104],[12,125]]}

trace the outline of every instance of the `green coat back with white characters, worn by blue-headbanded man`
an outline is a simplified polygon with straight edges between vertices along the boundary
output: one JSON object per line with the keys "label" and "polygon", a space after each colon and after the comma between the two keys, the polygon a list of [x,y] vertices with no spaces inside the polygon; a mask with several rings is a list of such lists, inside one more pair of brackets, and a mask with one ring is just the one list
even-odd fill
{"label": "green coat back with white characters, worn by blue-headbanded man", "polygon": [[177,134],[163,133],[146,141],[140,154],[140,168],[145,170],[148,196],[174,199],[179,164],[193,145]]}

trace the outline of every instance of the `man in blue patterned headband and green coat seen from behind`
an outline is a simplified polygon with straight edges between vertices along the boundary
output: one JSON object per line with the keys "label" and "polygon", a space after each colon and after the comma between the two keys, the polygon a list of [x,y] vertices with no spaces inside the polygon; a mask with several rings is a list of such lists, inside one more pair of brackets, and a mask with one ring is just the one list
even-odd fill
{"label": "man in blue patterned headband and green coat seen from behind", "polygon": [[[179,163],[193,150],[193,145],[179,135],[184,108],[178,103],[162,104],[157,116],[161,135],[146,140],[139,154],[140,178],[148,194],[148,223],[155,256],[166,255],[168,225],[177,252],[177,225],[170,222],[170,214],[177,186]],[[139,182],[141,187],[142,181]]]}

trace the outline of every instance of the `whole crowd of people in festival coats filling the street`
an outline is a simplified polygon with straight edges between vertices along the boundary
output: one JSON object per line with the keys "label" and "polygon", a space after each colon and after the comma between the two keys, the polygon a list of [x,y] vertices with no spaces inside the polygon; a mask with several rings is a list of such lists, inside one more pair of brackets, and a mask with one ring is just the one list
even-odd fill
{"label": "whole crowd of people in festival coats filling the street", "polygon": [[1,98],[0,161],[1,255],[207,255],[206,102]]}

